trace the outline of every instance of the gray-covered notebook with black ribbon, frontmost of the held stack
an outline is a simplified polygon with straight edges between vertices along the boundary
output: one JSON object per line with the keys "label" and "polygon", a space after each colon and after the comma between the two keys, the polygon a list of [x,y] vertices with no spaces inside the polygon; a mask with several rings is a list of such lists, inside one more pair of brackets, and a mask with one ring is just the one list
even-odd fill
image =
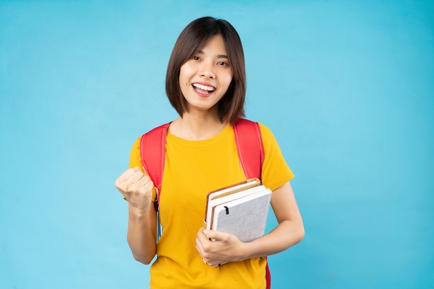
{"label": "gray-covered notebook with black ribbon, frontmost of the held stack", "polygon": [[212,229],[234,234],[242,242],[263,236],[271,191],[265,186],[250,190],[253,193],[214,207]]}

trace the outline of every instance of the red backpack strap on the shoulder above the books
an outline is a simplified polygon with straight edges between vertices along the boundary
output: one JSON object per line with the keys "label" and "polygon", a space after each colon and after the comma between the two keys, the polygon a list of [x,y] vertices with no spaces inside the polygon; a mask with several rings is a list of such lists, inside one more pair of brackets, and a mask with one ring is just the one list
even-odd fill
{"label": "red backpack strap on the shoulder above the books", "polygon": [[233,128],[238,159],[245,177],[261,179],[265,152],[259,123],[238,119]]}

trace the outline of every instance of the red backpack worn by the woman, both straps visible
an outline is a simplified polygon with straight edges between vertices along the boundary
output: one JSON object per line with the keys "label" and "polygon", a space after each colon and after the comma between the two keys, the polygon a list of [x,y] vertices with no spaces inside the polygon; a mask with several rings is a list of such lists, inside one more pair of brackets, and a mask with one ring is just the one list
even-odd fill
{"label": "red backpack worn by the woman, both straps visible", "polygon": [[[166,136],[170,123],[160,125],[140,139],[141,164],[153,181],[157,193],[155,196],[155,210],[159,213],[159,199],[162,191],[162,179],[164,172],[164,161],[166,159]],[[238,151],[238,159],[246,179],[261,179],[262,165],[264,160],[264,149],[259,123],[238,119],[232,126]],[[157,216],[157,238],[160,236],[159,216]],[[270,270],[266,266],[267,289],[271,285]]]}

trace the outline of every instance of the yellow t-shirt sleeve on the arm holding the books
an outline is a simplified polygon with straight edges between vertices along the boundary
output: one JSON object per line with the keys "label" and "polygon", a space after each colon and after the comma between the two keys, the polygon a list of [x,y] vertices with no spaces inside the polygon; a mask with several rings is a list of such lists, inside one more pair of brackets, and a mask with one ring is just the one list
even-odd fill
{"label": "yellow t-shirt sleeve on the arm holding the books", "polygon": [[261,181],[264,186],[274,191],[290,179],[293,179],[294,174],[286,164],[279,144],[271,130],[261,123],[259,123],[259,128],[261,129],[263,148],[265,150]]}

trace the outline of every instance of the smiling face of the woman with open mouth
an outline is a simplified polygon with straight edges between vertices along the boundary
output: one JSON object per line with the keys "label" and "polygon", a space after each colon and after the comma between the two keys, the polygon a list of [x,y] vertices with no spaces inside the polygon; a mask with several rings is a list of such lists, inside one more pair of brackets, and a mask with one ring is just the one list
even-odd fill
{"label": "smiling face of the woman with open mouth", "polygon": [[211,37],[180,69],[180,88],[188,103],[187,112],[218,114],[216,104],[225,96],[232,77],[223,38]]}

